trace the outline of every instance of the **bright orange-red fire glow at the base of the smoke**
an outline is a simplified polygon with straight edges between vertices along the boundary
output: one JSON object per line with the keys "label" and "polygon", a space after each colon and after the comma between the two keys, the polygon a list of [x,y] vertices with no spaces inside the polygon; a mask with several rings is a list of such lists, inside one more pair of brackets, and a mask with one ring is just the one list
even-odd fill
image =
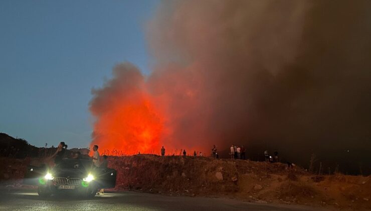
{"label": "bright orange-red fire glow at the base of the smoke", "polygon": [[156,153],[160,146],[162,118],[149,98],[117,101],[94,125],[93,142],[100,154]]}

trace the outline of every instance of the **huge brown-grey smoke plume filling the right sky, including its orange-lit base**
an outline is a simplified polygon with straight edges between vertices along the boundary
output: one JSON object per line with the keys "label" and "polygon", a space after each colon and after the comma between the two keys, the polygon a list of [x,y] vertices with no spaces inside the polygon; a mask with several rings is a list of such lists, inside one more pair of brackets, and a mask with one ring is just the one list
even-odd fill
{"label": "huge brown-grey smoke plume filling the right sky, including its orange-lit base", "polygon": [[[147,28],[153,71],[144,78],[117,67],[94,92],[93,143],[142,150],[122,125],[134,117],[114,115],[134,104],[143,107],[136,118],[155,125],[150,146],[157,148],[147,150],[156,152],[165,145],[209,154],[213,144],[371,149],[370,4],[162,2]],[[112,124],[122,125],[113,132],[124,138],[102,135],[113,133]]]}

